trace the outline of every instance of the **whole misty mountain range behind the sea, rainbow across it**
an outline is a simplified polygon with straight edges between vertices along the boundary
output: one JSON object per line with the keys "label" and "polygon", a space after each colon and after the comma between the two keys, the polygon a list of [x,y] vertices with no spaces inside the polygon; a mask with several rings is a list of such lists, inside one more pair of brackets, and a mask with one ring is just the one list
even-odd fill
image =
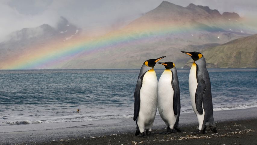
{"label": "whole misty mountain range behind the sea, rainbow across it", "polygon": [[[29,64],[26,69],[140,68],[145,60],[164,55],[164,61],[182,67],[190,59],[180,54],[182,50],[208,50],[255,34],[244,21],[234,12],[220,14],[208,6],[163,1],[118,30],[88,37],[61,17],[57,27],[43,24],[10,34],[0,43],[0,69],[12,68],[9,62]],[[40,65],[31,61],[37,56]]]}

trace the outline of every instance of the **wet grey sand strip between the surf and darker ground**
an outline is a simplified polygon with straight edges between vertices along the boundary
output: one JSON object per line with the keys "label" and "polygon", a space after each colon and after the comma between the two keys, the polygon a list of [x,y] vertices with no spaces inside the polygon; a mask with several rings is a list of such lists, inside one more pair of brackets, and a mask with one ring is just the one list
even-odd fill
{"label": "wet grey sand strip between the surf and darker ground", "polygon": [[[222,122],[227,124],[231,123],[231,121],[239,121],[240,123],[246,120],[251,120],[250,122],[253,122],[251,124],[254,124],[257,121],[256,111],[257,108],[214,111],[214,119],[218,124]],[[197,125],[198,123],[194,113],[181,114],[180,128],[182,130],[184,127],[191,127],[193,129],[187,129],[186,132],[195,131]],[[164,128],[166,128],[164,122],[160,116],[156,116],[153,133],[156,133],[155,130],[157,129],[163,130]],[[218,129],[220,130],[221,128],[218,127]],[[256,130],[257,128],[253,127],[250,129]],[[89,139],[90,137],[99,136],[111,137],[112,134],[129,134],[134,138],[135,136],[133,134],[135,130],[136,125],[132,118],[0,126],[0,144],[42,144],[49,143],[52,140],[68,140],[74,138],[82,140],[84,137]]]}

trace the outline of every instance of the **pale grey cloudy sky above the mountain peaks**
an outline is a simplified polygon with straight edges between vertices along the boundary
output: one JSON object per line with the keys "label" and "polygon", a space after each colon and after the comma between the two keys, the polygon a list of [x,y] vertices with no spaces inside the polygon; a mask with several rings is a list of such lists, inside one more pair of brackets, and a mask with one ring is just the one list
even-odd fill
{"label": "pale grey cloudy sky above the mountain peaks", "polygon": [[[167,0],[186,7],[190,3],[256,17],[256,0]],[[42,24],[56,26],[60,16],[83,29],[101,34],[121,27],[156,8],[162,0],[0,0],[0,41],[13,31]]]}

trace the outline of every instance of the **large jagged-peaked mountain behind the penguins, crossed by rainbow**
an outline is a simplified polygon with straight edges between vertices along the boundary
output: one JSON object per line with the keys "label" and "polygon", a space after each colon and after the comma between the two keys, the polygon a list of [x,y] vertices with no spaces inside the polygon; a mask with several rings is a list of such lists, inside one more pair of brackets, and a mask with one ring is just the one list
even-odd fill
{"label": "large jagged-peaked mountain behind the penguins, crossed by rainbow", "polygon": [[[202,47],[213,47],[209,44],[217,46],[255,33],[243,26],[243,18],[227,19],[229,14],[225,13],[224,16],[218,10],[194,4],[182,7],[164,1],[122,29],[106,35],[111,37],[130,34],[123,40],[129,45],[110,44],[113,47],[90,56],[77,55],[62,66],[74,69],[140,68],[141,62],[165,55],[165,60],[173,61],[177,67],[182,67],[189,60],[180,54],[182,50],[200,51]],[[140,43],[133,43],[133,40],[140,40]]]}

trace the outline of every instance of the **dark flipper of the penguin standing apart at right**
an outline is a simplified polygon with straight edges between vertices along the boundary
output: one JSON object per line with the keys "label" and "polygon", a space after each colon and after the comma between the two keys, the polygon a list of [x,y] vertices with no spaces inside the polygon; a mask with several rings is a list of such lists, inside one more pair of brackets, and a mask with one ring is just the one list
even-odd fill
{"label": "dark flipper of the penguin standing apart at right", "polygon": [[206,91],[206,86],[205,86],[205,81],[203,79],[200,79],[198,81],[198,85],[196,88],[196,110],[198,111],[199,114],[202,114],[202,101],[203,101],[203,96]]}

